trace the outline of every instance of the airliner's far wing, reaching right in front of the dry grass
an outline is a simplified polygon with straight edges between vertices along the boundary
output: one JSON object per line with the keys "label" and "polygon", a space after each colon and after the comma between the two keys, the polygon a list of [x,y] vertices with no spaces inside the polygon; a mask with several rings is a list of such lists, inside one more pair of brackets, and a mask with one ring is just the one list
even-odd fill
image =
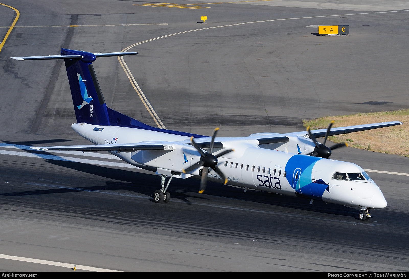
{"label": "airliner's far wing, reaching right in front of the dry grass", "polygon": [[[362,131],[367,131],[367,130],[372,130],[372,129],[379,129],[379,128],[384,128],[384,127],[402,125],[402,124],[403,123],[400,121],[389,121],[389,122],[381,122],[381,123],[371,123],[371,124],[364,124],[364,125],[331,128],[330,132],[328,133],[328,136],[335,136],[335,135],[348,134],[348,133],[354,133],[354,132],[362,132]],[[316,138],[321,138],[325,136],[326,131],[327,129],[319,129],[319,130],[313,130],[311,131],[311,133]],[[306,134],[308,133],[307,132],[295,132],[295,133],[290,133],[286,135],[303,136]]]}

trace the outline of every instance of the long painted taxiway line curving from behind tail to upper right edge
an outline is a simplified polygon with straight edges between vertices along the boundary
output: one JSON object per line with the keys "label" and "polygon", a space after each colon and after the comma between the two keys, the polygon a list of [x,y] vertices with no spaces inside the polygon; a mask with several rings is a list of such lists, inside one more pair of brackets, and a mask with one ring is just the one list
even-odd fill
{"label": "long painted taxiway line curving from behind tail to upper right edge", "polygon": [[[142,45],[145,42],[151,42],[153,40],[158,40],[158,39],[162,39],[162,38],[166,38],[166,37],[170,37],[170,36],[175,36],[175,35],[180,35],[180,34],[184,34],[184,33],[195,32],[195,31],[201,31],[201,30],[207,30],[207,29],[213,29],[213,28],[222,28],[222,27],[252,24],[252,23],[282,21],[282,20],[299,20],[299,19],[308,19],[308,18],[330,18],[330,17],[333,17],[333,16],[357,16],[357,15],[367,15],[367,14],[375,14],[375,13],[400,13],[400,12],[407,12],[407,11],[409,11],[409,10],[403,10],[403,11],[377,11],[377,12],[369,12],[369,13],[346,13],[346,14],[341,14],[341,15],[306,16],[306,17],[302,17],[302,18],[280,18],[280,19],[272,19],[272,20],[250,21],[250,22],[242,22],[242,23],[229,24],[229,25],[220,25],[220,26],[213,26],[213,27],[206,27],[206,28],[182,31],[182,32],[178,32],[178,33],[173,33],[173,34],[169,34],[169,35],[156,37],[156,38],[149,39],[149,40],[144,40],[142,42],[137,42],[136,44],[130,45],[129,47],[126,47],[126,48],[122,49],[121,51],[122,52],[128,51],[129,49],[131,49],[133,47],[136,47],[137,45]],[[143,94],[142,90],[139,88],[138,83],[136,82],[134,76],[132,75],[132,73],[130,72],[130,70],[128,68],[128,65],[126,65],[126,63],[125,63],[124,56],[118,56],[118,60],[119,60],[119,63],[121,64],[122,68],[124,69],[125,74],[128,76],[130,83],[132,84],[133,88],[137,92],[139,98],[141,98],[142,103],[144,103],[146,109],[151,114],[151,116],[152,116],[153,120],[155,121],[155,123],[158,125],[158,127],[160,127],[160,125],[158,123],[158,122],[160,122],[162,124],[162,127],[164,129],[166,129],[165,126],[163,125],[162,121],[160,121],[159,116],[157,116],[157,114],[156,114],[155,110],[153,109],[151,103],[149,103],[148,99]],[[155,115],[155,117],[153,115]]]}

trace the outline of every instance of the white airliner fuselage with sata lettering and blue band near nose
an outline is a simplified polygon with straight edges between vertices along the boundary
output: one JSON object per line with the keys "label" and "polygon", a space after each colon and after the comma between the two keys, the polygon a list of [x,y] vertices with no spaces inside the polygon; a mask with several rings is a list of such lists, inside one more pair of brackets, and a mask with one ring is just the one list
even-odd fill
{"label": "white airliner fuselage with sata lettering and blue band near nose", "polygon": [[[95,130],[96,127],[99,129]],[[200,154],[189,145],[188,136],[86,123],[74,123],[72,128],[94,144],[157,142],[166,145],[165,150],[110,153],[132,165],[160,174],[173,172],[180,178],[200,177],[199,169],[182,174],[182,170],[200,160]],[[209,138],[204,139],[209,141]],[[372,179],[333,179],[335,172],[364,172],[358,165],[297,154],[297,145],[304,154],[314,150],[313,143],[305,137],[291,137],[289,143],[281,144],[280,147],[274,145],[266,148],[258,146],[258,142],[252,137],[220,137],[216,138],[216,141],[221,142],[224,148],[235,150],[218,158],[218,167],[227,177],[229,185],[322,199],[325,202],[353,207],[384,208],[387,205],[380,188]],[[208,178],[222,182],[213,170],[209,172]]]}

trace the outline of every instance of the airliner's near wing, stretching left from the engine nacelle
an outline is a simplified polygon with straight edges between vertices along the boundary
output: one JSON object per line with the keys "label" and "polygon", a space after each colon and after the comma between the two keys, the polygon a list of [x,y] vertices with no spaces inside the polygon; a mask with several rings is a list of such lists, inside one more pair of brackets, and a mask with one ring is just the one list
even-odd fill
{"label": "airliner's near wing, stretching left from the engine nacelle", "polygon": [[[166,146],[166,147],[165,147]],[[99,144],[99,145],[67,145],[67,146],[46,146],[30,147],[31,149],[41,151],[52,150],[78,150],[78,151],[121,151],[133,152],[137,150],[171,150],[168,145],[158,143],[131,143],[131,144]]]}

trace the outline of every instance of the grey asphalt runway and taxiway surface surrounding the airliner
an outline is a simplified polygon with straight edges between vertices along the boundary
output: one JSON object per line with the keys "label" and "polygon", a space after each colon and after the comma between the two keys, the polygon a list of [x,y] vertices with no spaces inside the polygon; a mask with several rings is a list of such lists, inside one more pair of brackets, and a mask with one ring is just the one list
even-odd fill
{"label": "grey asphalt runway and taxiway surface surrounding the airliner", "polygon": [[[70,128],[61,61],[9,57],[120,51],[209,27],[217,28],[142,43],[125,58],[168,129],[248,136],[303,130],[306,118],[407,108],[408,3],[351,2],[3,1],[20,18],[0,51],[0,254],[121,271],[408,271],[407,176],[369,173],[388,206],[362,222],[355,209],[217,183],[198,194],[192,179],[175,179],[171,202],[156,204],[159,177],[110,154],[27,150],[87,141]],[[14,15],[0,6],[0,25]],[[306,27],[321,24],[349,24],[351,35]],[[108,107],[157,125],[117,58],[93,65]],[[406,157],[348,147],[331,158],[409,173]],[[1,257],[0,267],[73,271]]]}

